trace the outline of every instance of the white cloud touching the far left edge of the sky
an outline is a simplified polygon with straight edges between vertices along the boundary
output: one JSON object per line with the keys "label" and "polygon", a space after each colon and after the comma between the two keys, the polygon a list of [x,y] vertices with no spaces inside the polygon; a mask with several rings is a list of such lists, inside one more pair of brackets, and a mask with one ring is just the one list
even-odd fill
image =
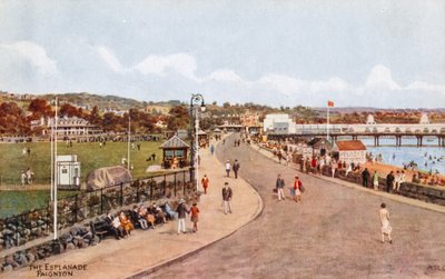
{"label": "white cloud touching the far left edge of the sky", "polygon": [[50,76],[58,72],[57,62],[48,57],[43,47],[32,41],[17,41],[11,43],[0,43],[0,49],[19,54],[27,62],[37,68],[37,72]]}

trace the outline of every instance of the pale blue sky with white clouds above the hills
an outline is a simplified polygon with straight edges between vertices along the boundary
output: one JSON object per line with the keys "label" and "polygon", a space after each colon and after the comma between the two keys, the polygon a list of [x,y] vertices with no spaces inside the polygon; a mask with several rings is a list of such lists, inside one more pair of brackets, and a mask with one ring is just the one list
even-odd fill
{"label": "pale blue sky with white clouds above the hills", "polygon": [[444,108],[443,0],[0,0],[0,90]]}

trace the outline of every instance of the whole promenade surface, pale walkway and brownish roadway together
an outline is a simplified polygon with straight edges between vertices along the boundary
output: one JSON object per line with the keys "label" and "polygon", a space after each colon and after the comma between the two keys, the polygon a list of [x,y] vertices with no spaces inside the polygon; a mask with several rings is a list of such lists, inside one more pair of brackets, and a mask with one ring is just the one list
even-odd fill
{"label": "whole promenade surface, pale walkway and brownish roadway together", "polygon": [[[219,143],[219,160],[201,150],[199,176],[206,173],[210,186],[198,203],[197,233],[177,235],[174,221],[33,266],[87,265],[73,278],[107,279],[443,278],[437,267],[445,266],[444,207],[300,173],[296,165],[278,163],[257,146],[234,148],[236,137]],[[225,177],[221,161],[227,159],[240,161],[238,179]],[[287,186],[300,176],[307,189],[301,203],[276,200],[271,189],[277,173]],[[222,213],[225,181],[234,189],[231,215]],[[388,205],[393,217],[393,245],[379,242],[380,202]],[[189,218],[187,227],[191,230]],[[36,269],[23,268],[1,276],[36,275]]]}

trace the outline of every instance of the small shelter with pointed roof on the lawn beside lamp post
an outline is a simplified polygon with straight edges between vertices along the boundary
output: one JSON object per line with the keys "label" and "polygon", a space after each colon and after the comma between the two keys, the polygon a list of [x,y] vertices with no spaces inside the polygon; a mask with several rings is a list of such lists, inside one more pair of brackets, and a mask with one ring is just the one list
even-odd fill
{"label": "small shelter with pointed roof on the lawn beside lamp post", "polygon": [[187,165],[187,151],[190,148],[178,136],[174,136],[164,142],[162,149],[162,167],[166,169],[184,168]]}

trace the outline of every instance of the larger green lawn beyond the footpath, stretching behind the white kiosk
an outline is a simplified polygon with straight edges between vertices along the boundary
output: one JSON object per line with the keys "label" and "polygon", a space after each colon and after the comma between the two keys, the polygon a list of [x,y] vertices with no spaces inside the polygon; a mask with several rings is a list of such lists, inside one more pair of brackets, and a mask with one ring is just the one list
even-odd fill
{"label": "larger green lawn beyond the footpath, stretching behind the white kiosk", "polygon": [[[160,141],[140,142],[140,150],[130,151],[130,161],[135,169],[134,178],[147,177],[149,165],[160,165],[162,150]],[[30,156],[23,155],[23,148],[30,148]],[[148,156],[156,153],[156,161],[146,161]],[[95,169],[121,165],[127,158],[127,142],[107,142],[100,148],[98,142],[73,143],[68,148],[65,142],[58,143],[58,155],[77,155],[81,166],[81,181]],[[51,157],[49,142],[3,143],[0,145],[0,189],[1,185],[20,185],[20,172],[28,167],[34,172],[34,183],[50,185]]]}

